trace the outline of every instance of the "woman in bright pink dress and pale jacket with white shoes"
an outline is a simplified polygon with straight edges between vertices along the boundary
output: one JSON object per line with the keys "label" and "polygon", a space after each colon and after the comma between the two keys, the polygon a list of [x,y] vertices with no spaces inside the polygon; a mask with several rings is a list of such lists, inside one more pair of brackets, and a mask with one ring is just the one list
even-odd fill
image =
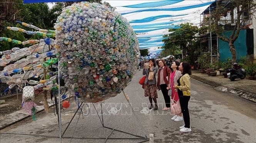
{"label": "woman in bright pink dress and pale jacket with white shoes", "polygon": [[[181,71],[179,71],[179,65],[180,63],[177,61],[172,62],[171,64],[171,75],[170,75],[170,84],[167,87],[167,89],[172,89],[172,96],[171,99],[174,101],[179,100],[179,95],[177,92],[177,89],[174,89],[174,85],[178,85],[177,80],[182,76]],[[175,122],[179,122],[183,120],[182,113],[178,115],[174,115],[171,120],[174,120]]]}

